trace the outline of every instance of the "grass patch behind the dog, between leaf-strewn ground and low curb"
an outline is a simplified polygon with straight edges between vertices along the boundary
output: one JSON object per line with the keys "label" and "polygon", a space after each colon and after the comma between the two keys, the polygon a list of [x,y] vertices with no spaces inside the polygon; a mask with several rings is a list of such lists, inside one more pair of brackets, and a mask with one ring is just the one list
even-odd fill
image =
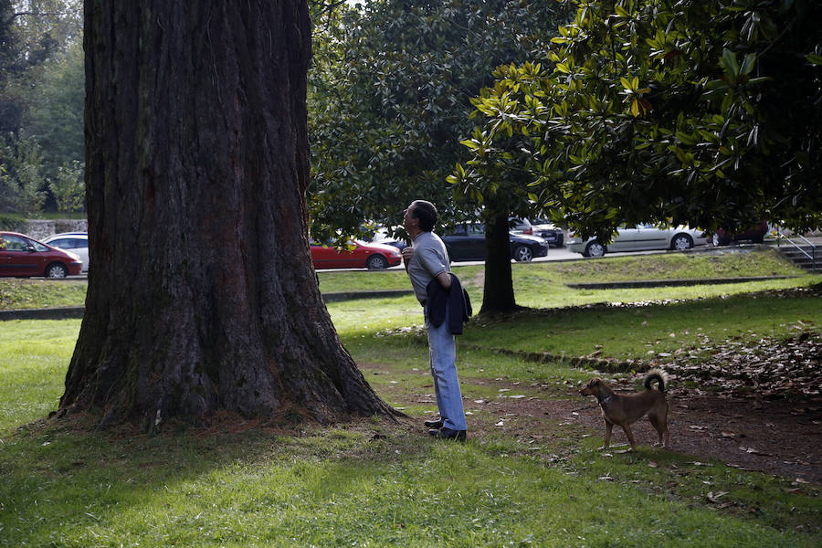
{"label": "grass patch behind the dog, between leaf-strewn ground and low curb", "polygon": [[[670,289],[658,291],[663,298],[669,294]],[[568,357],[637,359],[731,337],[788,336],[796,332],[797,321],[820,329],[822,298],[760,293],[648,306],[532,311],[497,320],[479,318],[461,341]]]}

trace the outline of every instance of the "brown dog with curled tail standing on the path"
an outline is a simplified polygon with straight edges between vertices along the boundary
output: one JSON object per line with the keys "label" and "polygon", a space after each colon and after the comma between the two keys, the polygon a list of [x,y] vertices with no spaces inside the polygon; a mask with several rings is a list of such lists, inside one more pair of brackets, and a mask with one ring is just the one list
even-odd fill
{"label": "brown dog with curled tail standing on the path", "polygon": [[[659,382],[659,390],[653,390],[651,383]],[[667,448],[670,433],[668,431],[668,400],[665,399],[665,374],[659,369],[651,369],[645,376],[645,391],[636,394],[618,395],[608,388],[602,380],[595,378],[579,391],[581,395],[595,395],[596,401],[602,408],[602,416],[606,421],[606,438],[601,449],[608,447],[611,442],[611,429],[614,425],[622,427],[631,444],[631,449],[637,448],[631,425],[648,413],[648,419],[659,434],[659,441],[655,446]],[[663,439],[665,441],[663,443]]]}

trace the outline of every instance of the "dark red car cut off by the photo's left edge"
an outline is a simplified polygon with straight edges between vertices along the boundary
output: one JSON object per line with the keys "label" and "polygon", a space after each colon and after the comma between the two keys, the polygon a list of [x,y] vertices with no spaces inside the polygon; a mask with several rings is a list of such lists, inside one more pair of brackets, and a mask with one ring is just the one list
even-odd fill
{"label": "dark red car cut off by the photo's left edge", "polygon": [[0,276],[65,278],[78,275],[82,266],[83,262],[70,251],[16,232],[0,232]]}

